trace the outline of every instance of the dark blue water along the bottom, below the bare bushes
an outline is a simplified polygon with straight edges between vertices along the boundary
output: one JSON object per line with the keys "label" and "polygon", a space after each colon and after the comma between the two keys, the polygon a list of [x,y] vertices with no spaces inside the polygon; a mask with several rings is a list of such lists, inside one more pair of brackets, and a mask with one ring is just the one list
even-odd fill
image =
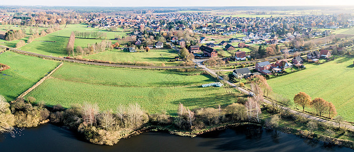
{"label": "dark blue water along the bottom, below the bare bushes", "polygon": [[291,134],[243,126],[195,138],[162,132],[122,139],[113,146],[95,145],[77,133],[51,124],[0,134],[0,151],[353,151]]}

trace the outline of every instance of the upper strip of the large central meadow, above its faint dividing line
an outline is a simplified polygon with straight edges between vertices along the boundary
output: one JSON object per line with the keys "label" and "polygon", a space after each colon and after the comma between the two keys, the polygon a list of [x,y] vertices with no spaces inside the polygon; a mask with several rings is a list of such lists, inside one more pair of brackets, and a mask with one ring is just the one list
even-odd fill
{"label": "upper strip of the large central meadow, above its faint dividing line", "polygon": [[66,63],[56,70],[52,77],[73,82],[120,87],[190,86],[215,82],[209,75],[186,75],[190,73],[193,72],[113,68]]}

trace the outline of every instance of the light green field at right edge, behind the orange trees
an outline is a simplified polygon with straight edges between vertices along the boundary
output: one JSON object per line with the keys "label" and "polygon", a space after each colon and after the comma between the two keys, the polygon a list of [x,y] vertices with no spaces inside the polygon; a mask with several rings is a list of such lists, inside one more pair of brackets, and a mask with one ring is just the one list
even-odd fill
{"label": "light green field at right edge, behind the orange trees", "polygon": [[[354,122],[354,58],[340,57],[321,65],[307,66],[307,69],[268,80],[277,94],[291,100],[300,91],[312,97],[321,97],[332,102],[338,115]],[[349,86],[349,87],[348,87]],[[312,109],[305,109],[313,112]]]}

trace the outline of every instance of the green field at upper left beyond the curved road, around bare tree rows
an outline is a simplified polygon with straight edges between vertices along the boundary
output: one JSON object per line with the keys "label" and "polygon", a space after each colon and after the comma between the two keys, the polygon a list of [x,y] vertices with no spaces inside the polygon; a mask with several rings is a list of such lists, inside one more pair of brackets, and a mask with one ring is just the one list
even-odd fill
{"label": "green field at upper left beyond the curved road, around bare tree rows", "polygon": [[[53,33],[47,34],[46,36],[39,37],[35,39],[34,42],[31,44],[27,44],[21,47],[21,50],[44,54],[44,55],[51,55],[51,56],[67,56],[66,46],[69,40],[69,36],[72,31],[80,31],[80,32],[90,32],[90,31],[98,31],[102,33],[106,33],[106,39],[114,39],[116,35],[125,36],[127,32],[110,32],[106,29],[98,29],[98,28],[90,28],[86,27],[87,25],[84,24],[68,24],[66,28],[62,26],[61,30],[55,31]],[[87,47],[87,44],[94,44],[99,43],[102,40],[97,39],[75,39],[75,47]],[[114,41],[112,41],[114,43]],[[16,44],[15,44],[16,45]]]}

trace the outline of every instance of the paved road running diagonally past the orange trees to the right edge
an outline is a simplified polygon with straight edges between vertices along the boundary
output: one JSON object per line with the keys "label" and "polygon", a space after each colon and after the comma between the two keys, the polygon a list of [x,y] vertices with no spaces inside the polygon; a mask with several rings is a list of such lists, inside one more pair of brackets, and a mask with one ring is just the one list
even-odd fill
{"label": "paved road running diagonally past the orange trees to the right edge", "polygon": [[[205,65],[202,65],[202,62],[203,62],[202,60],[194,59],[193,62],[196,63],[199,67],[203,68],[205,71],[208,71],[209,73],[213,74],[215,77],[219,77],[220,80],[223,80],[223,78],[220,77],[219,75],[217,75],[213,70],[211,70],[210,68],[206,67]],[[238,90],[240,90],[243,93],[249,94],[249,92],[250,92],[250,91],[248,91],[248,90],[246,90],[244,88],[238,87],[237,85],[235,85],[233,83],[230,83],[229,81],[226,81],[226,83],[229,84],[232,87],[237,88]],[[273,104],[273,102],[271,102],[271,101],[269,101],[267,99],[264,99],[264,102],[268,103],[268,104]],[[312,119],[312,120],[315,120],[315,121],[324,122],[324,123],[332,124],[334,126],[338,126],[338,123],[336,123],[336,122],[324,120],[324,119],[321,119],[319,117],[315,117],[315,116],[309,115],[307,113],[303,113],[303,112],[299,112],[299,111],[296,111],[296,110],[292,110],[292,109],[290,109],[288,107],[285,107],[285,110],[288,110],[291,113],[303,116],[303,117],[308,118],[308,119]],[[352,125],[345,125],[345,126],[347,128],[349,128],[349,129],[351,129],[351,130],[354,130],[354,126],[352,126]],[[341,125],[341,127],[343,127],[343,125]]]}

